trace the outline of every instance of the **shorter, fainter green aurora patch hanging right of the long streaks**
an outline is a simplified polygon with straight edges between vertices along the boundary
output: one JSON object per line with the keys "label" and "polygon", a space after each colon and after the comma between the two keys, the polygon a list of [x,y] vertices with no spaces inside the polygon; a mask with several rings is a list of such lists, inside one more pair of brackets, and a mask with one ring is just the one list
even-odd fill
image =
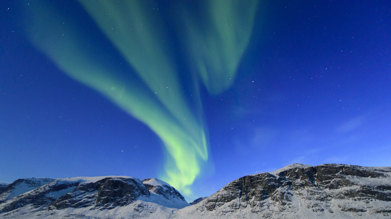
{"label": "shorter, fainter green aurora patch hanging right of the long streaks", "polygon": [[235,81],[235,73],[250,40],[258,1],[203,1],[201,16],[186,16],[189,61],[211,94]]}

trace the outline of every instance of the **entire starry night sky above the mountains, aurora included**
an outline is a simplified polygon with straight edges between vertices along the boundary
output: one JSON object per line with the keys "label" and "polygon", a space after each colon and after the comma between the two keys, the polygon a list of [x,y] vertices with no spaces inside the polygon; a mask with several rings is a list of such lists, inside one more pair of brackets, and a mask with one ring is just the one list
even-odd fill
{"label": "entire starry night sky above the mountains, aurora included", "polygon": [[391,166],[391,1],[0,6],[0,181]]}

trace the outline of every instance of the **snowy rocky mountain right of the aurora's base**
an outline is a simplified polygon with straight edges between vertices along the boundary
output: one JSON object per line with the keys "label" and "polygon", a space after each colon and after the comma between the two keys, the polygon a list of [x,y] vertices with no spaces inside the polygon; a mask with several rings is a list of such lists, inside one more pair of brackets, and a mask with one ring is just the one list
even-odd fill
{"label": "snowy rocky mountain right of the aurora's base", "polygon": [[[390,173],[390,167],[293,164],[234,180],[187,211],[209,217],[390,218]],[[177,215],[183,216],[180,210]]]}

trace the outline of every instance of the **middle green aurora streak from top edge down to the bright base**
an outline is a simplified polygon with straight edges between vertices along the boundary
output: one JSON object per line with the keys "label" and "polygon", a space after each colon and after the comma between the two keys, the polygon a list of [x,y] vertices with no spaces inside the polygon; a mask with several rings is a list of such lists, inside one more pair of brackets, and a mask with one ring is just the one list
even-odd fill
{"label": "middle green aurora streak from top edge down to the bright base", "polygon": [[[183,190],[200,173],[200,165],[208,159],[208,147],[204,122],[191,113],[183,97],[183,88],[170,58],[172,54],[167,48],[169,39],[164,34],[164,23],[145,1],[81,2],[172,117],[171,134],[154,131],[175,163],[166,166],[169,177],[163,178]],[[197,105],[200,108],[196,111],[202,111],[201,103]]]}

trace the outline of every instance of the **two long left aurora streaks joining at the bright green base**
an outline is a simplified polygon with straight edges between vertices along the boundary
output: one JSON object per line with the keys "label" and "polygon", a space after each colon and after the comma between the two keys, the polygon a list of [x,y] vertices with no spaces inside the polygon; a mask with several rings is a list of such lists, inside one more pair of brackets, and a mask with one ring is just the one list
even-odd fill
{"label": "two long left aurora streaks joining at the bright green base", "polygon": [[[93,40],[80,37],[85,33],[77,28],[77,22],[61,17],[45,4],[27,6],[31,12],[26,25],[27,32],[33,43],[65,73],[101,92],[147,124],[164,142],[168,163],[174,164],[167,165],[167,176],[164,179],[178,190],[190,194],[188,185],[200,174],[201,166],[208,159],[203,120],[190,112],[177,82],[175,68],[168,57],[169,53],[164,51],[162,44],[155,41],[156,35],[151,27],[143,28],[139,23],[143,21],[142,16],[134,18],[127,15],[126,11],[132,9],[142,10],[136,5],[138,1],[131,1],[132,5],[122,5],[120,8],[128,9],[123,14],[111,11],[112,5],[106,2],[113,1],[89,1],[98,8],[97,14],[110,13],[114,20],[121,21],[115,26],[127,26],[118,27],[116,33],[108,36],[149,88],[143,88],[132,79],[124,77],[116,66],[108,64],[110,62],[94,59],[96,51],[86,48],[86,45],[94,47]],[[99,17],[96,19],[99,23]],[[108,31],[105,27],[101,28]],[[130,31],[132,29],[136,31]]]}

